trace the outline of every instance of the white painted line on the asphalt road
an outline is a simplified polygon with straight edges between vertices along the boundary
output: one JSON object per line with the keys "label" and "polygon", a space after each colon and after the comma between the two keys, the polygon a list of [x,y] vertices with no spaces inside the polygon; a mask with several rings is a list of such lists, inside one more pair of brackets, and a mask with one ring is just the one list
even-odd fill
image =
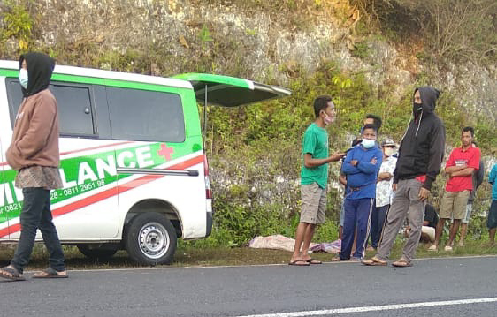
{"label": "white painted line on the asphalt road", "polygon": [[367,313],[367,312],[378,312],[378,311],[397,310],[397,309],[406,309],[406,308],[454,306],[454,305],[467,305],[467,304],[480,304],[480,303],[493,303],[493,302],[497,302],[497,298],[471,298],[471,299],[447,300],[440,302],[423,302],[423,303],[411,303],[411,304],[337,308],[337,309],[307,311],[307,312],[265,313],[265,314],[247,315],[247,316],[238,316],[238,317],[305,317],[305,316],[332,315],[340,313]]}

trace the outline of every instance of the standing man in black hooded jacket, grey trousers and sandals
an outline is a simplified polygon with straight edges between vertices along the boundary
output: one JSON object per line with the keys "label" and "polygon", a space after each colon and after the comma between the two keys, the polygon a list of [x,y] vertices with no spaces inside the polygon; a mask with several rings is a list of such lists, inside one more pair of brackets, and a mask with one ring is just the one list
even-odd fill
{"label": "standing man in black hooded jacket, grey trousers and sandals", "polygon": [[364,260],[365,265],[386,265],[397,232],[406,216],[411,228],[409,238],[402,250],[401,259],[394,261],[393,265],[412,265],[421,236],[424,206],[432,183],[440,173],[445,149],[445,128],[433,112],[439,94],[433,87],[418,87],[414,91],[413,119],[401,140],[394,170],[394,200],[388,211],[378,253],[370,260]]}

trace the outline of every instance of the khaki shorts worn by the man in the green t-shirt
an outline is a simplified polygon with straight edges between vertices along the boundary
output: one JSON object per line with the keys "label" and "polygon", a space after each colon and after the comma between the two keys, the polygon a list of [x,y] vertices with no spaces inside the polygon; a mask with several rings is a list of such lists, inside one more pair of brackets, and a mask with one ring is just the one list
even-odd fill
{"label": "khaki shorts worn by the man in the green t-shirt", "polygon": [[302,185],[301,223],[325,223],[326,190],[316,183]]}

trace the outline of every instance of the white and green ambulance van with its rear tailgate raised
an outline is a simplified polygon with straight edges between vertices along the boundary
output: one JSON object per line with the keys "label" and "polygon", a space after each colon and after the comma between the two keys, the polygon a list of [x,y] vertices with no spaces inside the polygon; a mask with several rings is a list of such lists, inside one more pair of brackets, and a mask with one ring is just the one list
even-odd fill
{"label": "white and green ambulance van with its rear tailgate raised", "polygon": [[[5,161],[22,99],[18,74],[19,62],[0,60],[0,242],[20,235],[22,191]],[[210,235],[212,193],[197,101],[235,107],[290,94],[220,75],[166,79],[61,65],[50,91],[64,183],[50,198],[61,242],[89,257],[126,249],[144,265],[171,262],[177,238]]]}

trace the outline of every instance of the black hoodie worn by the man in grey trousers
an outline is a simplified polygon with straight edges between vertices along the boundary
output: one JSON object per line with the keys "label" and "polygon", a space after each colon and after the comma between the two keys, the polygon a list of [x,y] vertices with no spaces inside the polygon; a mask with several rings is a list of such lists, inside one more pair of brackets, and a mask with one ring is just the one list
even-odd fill
{"label": "black hoodie worn by the man in grey trousers", "polygon": [[409,122],[408,130],[401,140],[399,158],[394,171],[394,184],[399,179],[412,179],[426,175],[423,187],[431,190],[432,183],[440,173],[445,150],[445,127],[433,110],[439,91],[432,87],[418,87],[422,111],[413,113],[416,119]]}

